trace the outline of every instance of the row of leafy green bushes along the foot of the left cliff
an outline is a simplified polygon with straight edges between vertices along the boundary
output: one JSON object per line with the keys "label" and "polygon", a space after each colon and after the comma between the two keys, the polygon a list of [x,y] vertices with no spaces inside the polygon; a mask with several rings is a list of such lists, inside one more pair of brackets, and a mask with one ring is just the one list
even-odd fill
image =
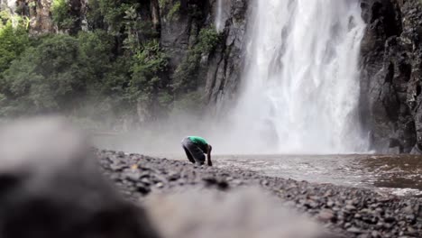
{"label": "row of leafy green bushes along the foot of the left cliff", "polygon": [[114,47],[104,31],[43,38],[2,74],[1,114],[71,113],[87,102],[121,109],[139,101],[152,104],[166,87],[158,76],[167,65],[159,44],[147,42],[133,57],[121,59],[111,54]]}

